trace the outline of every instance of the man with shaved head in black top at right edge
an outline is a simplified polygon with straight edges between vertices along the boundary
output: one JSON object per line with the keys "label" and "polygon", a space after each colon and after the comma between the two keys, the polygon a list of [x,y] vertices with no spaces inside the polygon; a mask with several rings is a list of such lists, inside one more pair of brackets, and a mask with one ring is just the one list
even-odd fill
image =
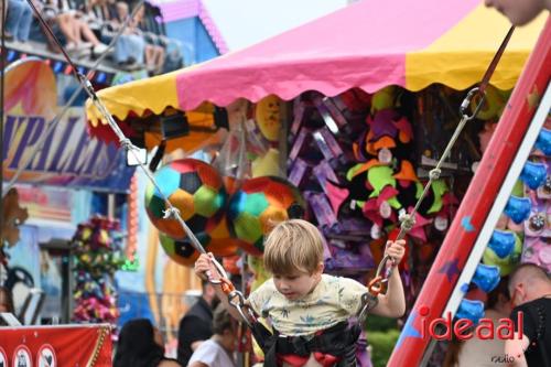
{"label": "man with shaved head in black top at right edge", "polygon": [[[551,367],[551,279],[533,263],[522,263],[509,277],[509,294],[515,306],[510,320],[515,338],[505,342],[505,353],[514,366]],[[522,313],[522,323],[519,322]],[[522,327],[522,338],[519,328]]]}

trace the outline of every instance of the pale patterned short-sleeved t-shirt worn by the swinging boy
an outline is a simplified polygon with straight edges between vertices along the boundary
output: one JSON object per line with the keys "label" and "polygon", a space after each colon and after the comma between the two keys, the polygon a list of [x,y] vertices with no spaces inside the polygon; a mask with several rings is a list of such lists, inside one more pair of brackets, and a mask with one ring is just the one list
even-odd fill
{"label": "pale patterned short-sleeved t-shirt worn by the swinging boy", "polygon": [[322,274],[311,293],[291,301],[269,279],[250,294],[249,302],[257,314],[269,316],[281,334],[309,335],[356,315],[366,292],[367,288],[353,279]]}

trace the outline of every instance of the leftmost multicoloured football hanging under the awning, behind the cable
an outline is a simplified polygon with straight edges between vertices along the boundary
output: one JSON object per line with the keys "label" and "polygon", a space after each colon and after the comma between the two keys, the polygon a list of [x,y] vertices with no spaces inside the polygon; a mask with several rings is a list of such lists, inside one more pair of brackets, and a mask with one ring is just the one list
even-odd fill
{"label": "leftmost multicoloured football hanging under the awning, behind the cable", "polygon": [[[223,219],[226,190],[218,172],[209,164],[183,159],[173,161],[155,172],[155,180],[182,219],[197,236],[202,245],[208,245],[208,235]],[[173,218],[165,219],[166,203],[158,188],[149,183],[145,190],[145,209],[151,223],[172,238],[184,238],[184,229]]]}

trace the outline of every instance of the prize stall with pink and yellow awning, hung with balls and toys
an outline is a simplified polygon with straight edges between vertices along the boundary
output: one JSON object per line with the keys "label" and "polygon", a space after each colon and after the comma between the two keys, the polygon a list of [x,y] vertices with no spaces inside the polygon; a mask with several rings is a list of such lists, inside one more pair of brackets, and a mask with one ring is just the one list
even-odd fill
{"label": "prize stall with pink and yellow awning, hung with balls and toys", "polygon": [[[419,206],[400,265],[409,310],[544,23],[515,31],[483,109]],[[292,217],[324,234],[328,272],[367,283],[454,133],[466,89],[480,82],[508,29],[475,0],[445,9],[436,0],[364,1],[205,64],[104,89],[99,98],[140,147],[185,152],[166,159],[155,172],[160,186],[144,197],[172,259],[192,266],[198,252],[176,220],[163,219],[163,195],[207,251],[249,255],[229,268],[242,276],[248,263],[252,287],[266,279],[259,259],[268,224]],[[87,112],[94,134],[116,140],[91,104]],[[185,132],[171,138],[177,123]],[[520,257],[549,270],[549,227],[538,219],[549,199],[547,149],[543,141],[530,155],[515,186],[519,202],[505,212],[464,293],[484,300]]]}

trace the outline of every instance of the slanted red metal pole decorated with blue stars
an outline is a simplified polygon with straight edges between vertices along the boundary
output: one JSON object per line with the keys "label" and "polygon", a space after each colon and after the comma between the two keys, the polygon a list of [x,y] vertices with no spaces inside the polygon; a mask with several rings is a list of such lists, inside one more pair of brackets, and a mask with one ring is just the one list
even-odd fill
{"label": "slanted red metal pole decorated with blue stars", "polygon": [[[551,21],[540,34],[461,203],[387,366],[418,366],[430,342],[421,319],[441,317],[551,75]],[[428,312],[428,314],[426,314]]]}

